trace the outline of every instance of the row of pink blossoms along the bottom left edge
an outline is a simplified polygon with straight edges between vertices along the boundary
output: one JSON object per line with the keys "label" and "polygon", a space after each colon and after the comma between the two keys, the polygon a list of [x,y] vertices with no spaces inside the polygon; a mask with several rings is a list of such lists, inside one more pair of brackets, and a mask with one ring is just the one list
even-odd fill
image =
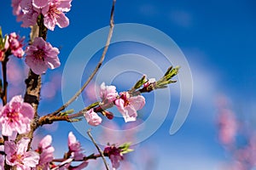
{"label": "row of pink blossoms along the bottom left edge", "polygon": [[[58,167],[59,165],[53,164],[54,151],[55,148],[51,145],[52,137],[46,135],[38,144],[37,150],[28,149],[28,144],[30,139],[22,138],[17,143],[13,140],[5,141],[3,145],[3,150],[5,153],[5,160],[9,166],[17,167],[17,169],[49,169],[53,167]],[[72,159],[76,161],[83,161],[84,153],[79,141],[73,135],[72,132],[68,134],[68,152],[65,162],[67,159]],[[0,169],[3,169],[4,156],[0,155]],[[63,163],[63,168],[69,169],[71,163]],[[83,161],[76,169],[83,169],[88,164],[87,161]]]}

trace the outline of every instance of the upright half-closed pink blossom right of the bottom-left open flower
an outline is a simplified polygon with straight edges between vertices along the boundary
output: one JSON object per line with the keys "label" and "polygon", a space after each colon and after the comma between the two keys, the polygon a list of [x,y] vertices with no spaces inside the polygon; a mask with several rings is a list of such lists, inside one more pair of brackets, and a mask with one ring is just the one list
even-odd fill
{"label": "upright half-closed pink blossom right of the bottom-left open flower", "polygon": [[51,141],[51,136],[46,135],[38,144],[38,150],[36,151],[40,154],[40,160],[37,169],[49,169],[49,162],[53,160],[53,153],[55,151],[54,147],[51,146]]}

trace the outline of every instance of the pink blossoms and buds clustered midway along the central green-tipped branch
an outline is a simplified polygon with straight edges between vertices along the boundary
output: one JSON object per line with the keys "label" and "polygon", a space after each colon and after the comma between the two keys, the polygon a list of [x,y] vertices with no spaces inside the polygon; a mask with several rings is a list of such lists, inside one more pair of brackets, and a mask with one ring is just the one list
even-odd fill
{"label": "pink blossoms and buds clustered midway along the central green-tipped branch", "polygon": [[133,122],[137,119],[137,111],[141,110],[146,103],[143,95],[132,95],[129,92],[118,94],[115,86],[106,86],[105,82],[101,84],[100,96],[102,99],[100,106],[84,113],[85,119],[91,126],[97,126],[102,122],[102,118],[96,114],[98,109],[100,109],[99,112],[102,112],[102,115],[112,119],[113,114],[110,111],[105,111],[105,107],[115,105],[124,117],[125,122]]}

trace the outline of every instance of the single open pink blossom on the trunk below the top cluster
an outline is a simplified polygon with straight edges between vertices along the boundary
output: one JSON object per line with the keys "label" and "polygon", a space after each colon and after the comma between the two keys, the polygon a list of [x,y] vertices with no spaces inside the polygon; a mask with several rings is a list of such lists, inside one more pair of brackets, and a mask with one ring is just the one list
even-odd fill
{"label": "single open pink blossom on the trunk below the top cluster", "polygon": [[58,48],[53,48],[42,37],[36,37],[32,45],[26,48],[26,65],[38,75],[44,73],[47,68],[55,69],[61,65],[58,58]]}

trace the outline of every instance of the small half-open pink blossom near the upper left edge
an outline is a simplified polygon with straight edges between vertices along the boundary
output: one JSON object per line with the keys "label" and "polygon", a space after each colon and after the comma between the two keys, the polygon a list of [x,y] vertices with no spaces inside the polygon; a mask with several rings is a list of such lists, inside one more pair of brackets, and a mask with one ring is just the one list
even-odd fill
{"label": "small half-open pink blossom near the upper left edge", "polygon": [[20,39],[20,37],[17,36],[15,32],[9,34],[9,48],[11,53],[18,58],[21,58],[24,55],[22,42],[23,39]]}

